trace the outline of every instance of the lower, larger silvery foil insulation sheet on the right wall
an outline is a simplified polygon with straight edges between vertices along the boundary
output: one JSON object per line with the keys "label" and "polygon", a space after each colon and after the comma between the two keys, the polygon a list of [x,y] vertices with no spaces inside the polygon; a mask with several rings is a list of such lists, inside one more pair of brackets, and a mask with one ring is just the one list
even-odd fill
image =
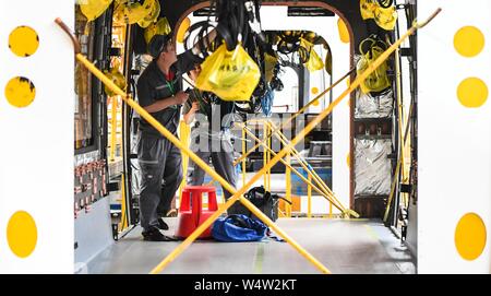
{"label": "lower, larger silvery foil insulation sheet on the right wall", "polygon": [[355,196],[388,196],[391,152],[391,140],[355,140]]}

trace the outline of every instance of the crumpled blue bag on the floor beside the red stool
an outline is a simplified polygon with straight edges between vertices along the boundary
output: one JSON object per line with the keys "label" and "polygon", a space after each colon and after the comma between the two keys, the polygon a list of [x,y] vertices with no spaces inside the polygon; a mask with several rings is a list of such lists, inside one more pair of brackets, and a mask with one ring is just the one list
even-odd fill
{"label": "crumpled blue bag on the floor beside the red stool", "polygon": [[212,227],[212,236],[226,242],[260,241],[267,233],[268,228],[264,223],[247,215],[219,217]]}

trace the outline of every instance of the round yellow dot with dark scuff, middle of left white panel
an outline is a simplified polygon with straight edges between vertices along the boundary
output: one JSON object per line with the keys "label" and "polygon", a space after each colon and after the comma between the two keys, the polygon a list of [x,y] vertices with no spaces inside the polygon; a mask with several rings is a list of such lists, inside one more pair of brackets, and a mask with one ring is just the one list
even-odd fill
{"label": "round yellow dot with dark scuff, middle of left white panel", "polygon": [[5,97],[12,106],[27,107],[36,97],[36,87],[31,80],[17,76],[7,83]]}

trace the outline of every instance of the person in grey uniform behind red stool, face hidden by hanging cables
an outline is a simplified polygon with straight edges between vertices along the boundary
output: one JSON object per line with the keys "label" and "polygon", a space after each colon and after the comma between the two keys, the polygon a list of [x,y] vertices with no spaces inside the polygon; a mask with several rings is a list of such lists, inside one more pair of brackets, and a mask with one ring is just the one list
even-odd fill
{"label": "person in grey uniform behind red stool, face hidden by hanging cables", "polygon": [[[195,82],[200,72],[201,67],[196,64],[188,75]],[[185,123],[191,125],[190,149],[207,164],[212,158],[216,173],[236,187],[237,173],[230,133],[233,103],[221,100],[216,95],[195,87],[187,92],[190,96],[182,108],[182,115]],[[189,185],[203,185],[205,171],[191,159],[188,171]],[[223,190],[225,199],[228,200],[231,193],[225,188]],[[237,202],[228,210],[228,214],[236,213],[238,206],[240,204]]]}

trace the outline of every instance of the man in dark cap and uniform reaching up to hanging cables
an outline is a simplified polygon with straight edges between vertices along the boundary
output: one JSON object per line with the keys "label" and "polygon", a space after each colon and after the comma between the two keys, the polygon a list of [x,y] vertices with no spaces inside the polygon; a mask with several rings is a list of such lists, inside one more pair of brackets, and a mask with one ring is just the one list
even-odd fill
{"label": "man in dark cap and uniform reaching up to hanging cables", "polygon": [[[208,34],[213,42],[215,31]],[[196,44],[192,49],[177,56],[170,35],[156,35],[148,45],[153,61],[137,81],[140,105],[175,135],[181,105],[188,99],[182,92],[182,74],[201,63]],[[140,191],[140,216],[143,238],[166,241],[169,237],[159,229],[169,227],[163,217],[170,210],[171,201],[182,180],[181,152],[145,119],[140,119],[139,164],[142,173]]]}

